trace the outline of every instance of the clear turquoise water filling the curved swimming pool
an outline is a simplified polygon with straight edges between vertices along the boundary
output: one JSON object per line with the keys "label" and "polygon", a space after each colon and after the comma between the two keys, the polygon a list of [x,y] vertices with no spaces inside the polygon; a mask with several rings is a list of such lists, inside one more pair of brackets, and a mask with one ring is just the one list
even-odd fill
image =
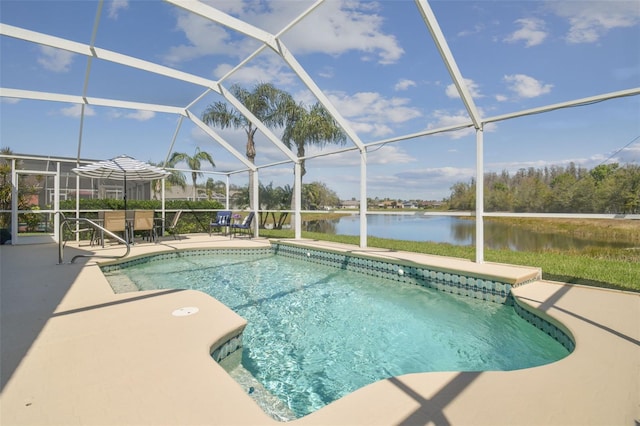
{"label": "clear turquoise water filling the curved swimming pool", "polygon": [[246,318],[242,367],[297,417],[391,376],[514,370],[568,354],[510,306],[283,256],[188,256],[106,275],[118,274],[141,290],[206,292]]}

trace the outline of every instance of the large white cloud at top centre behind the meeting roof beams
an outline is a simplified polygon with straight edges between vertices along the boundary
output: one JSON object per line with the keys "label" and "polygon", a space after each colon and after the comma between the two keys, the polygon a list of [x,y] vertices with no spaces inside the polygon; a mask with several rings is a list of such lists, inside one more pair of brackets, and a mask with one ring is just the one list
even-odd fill
{"label": "large white cloud at top centre behind the meeting roof beams", "polygon": [[[213,2],[214,7],[272,33],[279,31],[296,14],[302,12],[300,7],[291,7],[295,4]],[[295,54],[341,55],[359,51],[364,54],[363,60],[369,60],[369,56],[374,55],[379,63],[394,63],[404,50],[393,35],[382,32],[383,19],[375,14],[372,5],[350,1],[325,2],[288,31],[283,40]],[[188,43],[169,50],[164,58],[169,64],[214,54],[243,58],[259,46],[253,39],[190,13],[179,12],[176,26],[184,33]],[[309,31],[309,28],[314,30]]]}

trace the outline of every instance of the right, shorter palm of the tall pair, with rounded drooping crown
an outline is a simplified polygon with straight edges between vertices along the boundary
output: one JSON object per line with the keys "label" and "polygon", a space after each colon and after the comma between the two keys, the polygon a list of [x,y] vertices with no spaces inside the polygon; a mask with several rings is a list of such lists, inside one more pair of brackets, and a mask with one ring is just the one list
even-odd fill
{"label": "right, shorter palm of the tall pair, with rounded drooping crown", "polygon": [[[300,161],[302,179],[302,176],[307,172],[304,160],[307,144],[316,146],[324,146],[327,143],[344,144],[347,137],[329,111],[319,102],[316,102],[308,110],[302,103],[289,104],[286,111],[287,121],[282,142],[291,149],[295,145],[298,158],[302,158]],[[296,191],[293,191],[291,210],[295,209],[295,194]],[[291,225],[294,226],[293,223]]]}

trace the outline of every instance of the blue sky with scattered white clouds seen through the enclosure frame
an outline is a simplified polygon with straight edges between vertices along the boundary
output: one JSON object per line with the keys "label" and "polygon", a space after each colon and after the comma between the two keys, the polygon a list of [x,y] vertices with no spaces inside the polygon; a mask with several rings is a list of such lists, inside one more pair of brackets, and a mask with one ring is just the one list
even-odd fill
{"label": "blue sky with scattered white clouds seen through the enclosure frame", "polygon": [[[211,1],[271,34],[314,2]],[[90,44],[97,1],[0,0],[0,22]],[[481,117],[494,117],[640,87],[639,1],[432,1],[448,47]],[[464,103],[413,1],[327,0],[281,40],[367,148],[370,198],[439,200],[475,175],[473,129],[402,140],[469,121]],[[105,1],[95,46],[171,67],[229,88],[272,83],[310,106],[317,101],[294,70],[255,39],[171,3]],[[0,36],[0,87],[187,108],[201,116],[223,101],[202,86],[101,59]],[[89,67],[90,63],[90,67]],[[242,64],[241,67],[237,67]],[[236,69],[232,74],[229,71]],[[87,70],[90,72],[87,72]],[[88,78],[87,78],[88,75]],[[86,86],[86,88],[85,88]],[[204,96],[202,96],[204,95]],[[202,97],[201,97],[202,96]],[[163,162],[171,152],[212,154],[215,173],[243,170],[188,119],[144,109],[2,97],[0,146],[15,153],[107,159],[126,154]],[[244,154],[242,129],[216,129]],[[279,137],[282,129],[273,129]],[[175,137],[175,142],[174,141]],[[173,143],[173,145],[172,145]],[[308,147],[304,183],[322,182],[342,199],[360,197],[354,147]],[[263,184],[293,185],[293,165],[256,134]],[[640,162],[640,96],[629,96],[487,124],[486,171]],[[223,179],[205,174],[204,179]],[[231,183],[246,185],[247,174]]]}

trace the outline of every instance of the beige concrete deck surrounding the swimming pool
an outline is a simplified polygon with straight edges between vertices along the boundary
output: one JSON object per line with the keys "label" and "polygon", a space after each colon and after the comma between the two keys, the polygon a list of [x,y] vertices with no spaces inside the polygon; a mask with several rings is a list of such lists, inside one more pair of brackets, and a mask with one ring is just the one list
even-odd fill
{"label": "beige concrete deck surrounding the swimming pool", "polygon": [[[302,244],[524,279],[535,269],[416,253]],[[189,235],[138,244],[132,255],[257,247],[264,239]],[[68,247],[65,258],[122,253]],[[211,346],[244,320],[195,291],[114,294],[93,260],[56,265],[57,245],[0,246],[0,424],[269,425],[215,363]],[[640,294],[548,281],[513,290],[520,303],[563,324],[576,349],[541,367],[508,372],[419,373],[376,382],[293,425],[637,425]],[[176,317],[182,307],[197,307]]]}

